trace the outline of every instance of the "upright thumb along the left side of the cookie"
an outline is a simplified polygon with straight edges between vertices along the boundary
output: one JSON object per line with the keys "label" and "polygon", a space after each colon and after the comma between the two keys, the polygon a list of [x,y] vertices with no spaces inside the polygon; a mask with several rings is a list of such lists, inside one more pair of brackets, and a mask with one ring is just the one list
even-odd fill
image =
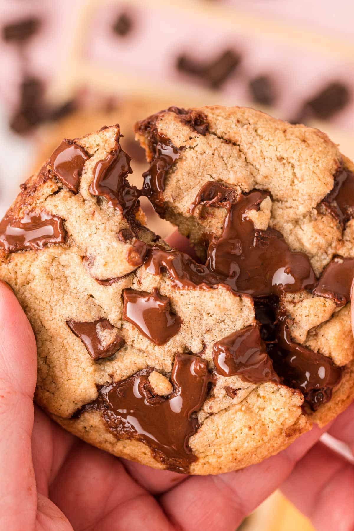
{"label": "upright thumb along the left side of the cookie", "polygon": [[31,529],[36,485],[31,458],[36,342],[10,287],[0,281],[0,528]]}

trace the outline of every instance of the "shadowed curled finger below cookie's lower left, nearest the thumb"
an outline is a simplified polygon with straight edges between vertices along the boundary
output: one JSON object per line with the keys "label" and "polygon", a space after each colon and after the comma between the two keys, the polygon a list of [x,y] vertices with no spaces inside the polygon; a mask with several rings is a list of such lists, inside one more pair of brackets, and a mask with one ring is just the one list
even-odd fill
{"label": "shadowed curled finger below cookie's lower left, nearest the thumb", "polygon": [[50,499],[75,531],[170,531],[156,499],[135,483],[120,460],[80,441],[51,485]]}

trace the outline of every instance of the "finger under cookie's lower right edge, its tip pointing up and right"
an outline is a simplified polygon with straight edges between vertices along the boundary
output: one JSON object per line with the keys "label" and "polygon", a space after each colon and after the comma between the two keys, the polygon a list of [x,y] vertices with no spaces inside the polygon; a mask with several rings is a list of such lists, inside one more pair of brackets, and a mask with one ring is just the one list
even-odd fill
{"label": "finger under cookie's lower right edge, its tip pointing up and right", "polygon": [[277,456],[238,472],[191,477],[163,494],[161,505],[183,531],[191,528],[234,531],[245,516],[277,489],[321,434],[322,430],[314,427]]}

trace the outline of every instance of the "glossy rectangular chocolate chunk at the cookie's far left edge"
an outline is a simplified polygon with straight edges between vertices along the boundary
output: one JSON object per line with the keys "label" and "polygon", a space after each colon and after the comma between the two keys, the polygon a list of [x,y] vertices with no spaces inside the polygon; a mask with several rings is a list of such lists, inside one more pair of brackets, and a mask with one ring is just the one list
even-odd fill
{"label": "glossy rectangular chocolate chunk at the cookie's far left edge", "polygon": [[7,253],[65,243],[65,234],[63,220],[45,210],[26,211],[20,220],[6,215],[0,222],[0,246]]}

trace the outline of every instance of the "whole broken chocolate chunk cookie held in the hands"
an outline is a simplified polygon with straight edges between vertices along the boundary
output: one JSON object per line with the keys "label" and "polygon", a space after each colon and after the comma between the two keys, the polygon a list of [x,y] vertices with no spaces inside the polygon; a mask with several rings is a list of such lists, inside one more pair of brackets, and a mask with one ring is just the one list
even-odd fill
{"label": "whole broken chocolate chunk cookie held in the hands", "polygon": [[[217,474],[286,448],[353,398],[352,163],[320,131],[251,109],[65,139],[0,224],[0,278],[38,348],[36,401],[116,456]],[[139,198],[203,263],[144,226]]]}

